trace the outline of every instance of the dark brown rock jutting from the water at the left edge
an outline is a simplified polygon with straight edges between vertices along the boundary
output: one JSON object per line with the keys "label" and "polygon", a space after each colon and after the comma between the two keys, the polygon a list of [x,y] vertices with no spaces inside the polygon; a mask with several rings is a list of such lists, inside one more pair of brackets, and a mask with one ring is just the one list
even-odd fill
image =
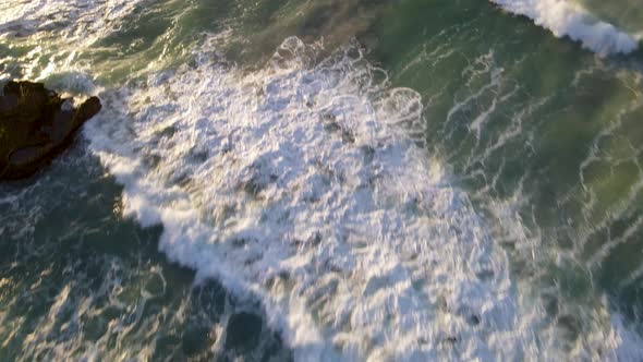
{"label": "dark brown rock jutting from the water at the left edge", "polygon": [[0,181],[27,178],[47,166],[100,108],[96,97],[73,108],[71,99],[40,83],[9,82],[0,95]]}

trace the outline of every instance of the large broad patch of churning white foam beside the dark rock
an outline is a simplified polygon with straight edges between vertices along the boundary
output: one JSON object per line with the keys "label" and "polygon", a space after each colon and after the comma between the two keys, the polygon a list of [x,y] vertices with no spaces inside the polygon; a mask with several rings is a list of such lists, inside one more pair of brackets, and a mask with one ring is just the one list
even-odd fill
{"label": "large broad patch of churning white foam beside the dark rock", "polygon": [[[390,88],[356,45],[312,64],[315,47],[289,38],[251,72],[213,48],[105,92],[85,129],[124,214],[162,224],[171,260],[259,297],[298,360],[569,357],[414,137],[415,92]],[[622,355],[602,311],[572,355]]]}

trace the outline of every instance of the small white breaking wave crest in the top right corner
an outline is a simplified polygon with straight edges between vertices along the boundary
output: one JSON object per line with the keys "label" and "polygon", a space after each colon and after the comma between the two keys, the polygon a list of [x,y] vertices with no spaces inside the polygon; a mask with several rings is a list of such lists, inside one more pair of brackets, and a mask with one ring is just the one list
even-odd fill
{"label": "small white breaking wave crest in the top right corner", "polygon": [[629,53],[639,40],[593,16],[570,0],[490,0],[514,14],[530,17],[557,37],[569,37],[598,55]]}

